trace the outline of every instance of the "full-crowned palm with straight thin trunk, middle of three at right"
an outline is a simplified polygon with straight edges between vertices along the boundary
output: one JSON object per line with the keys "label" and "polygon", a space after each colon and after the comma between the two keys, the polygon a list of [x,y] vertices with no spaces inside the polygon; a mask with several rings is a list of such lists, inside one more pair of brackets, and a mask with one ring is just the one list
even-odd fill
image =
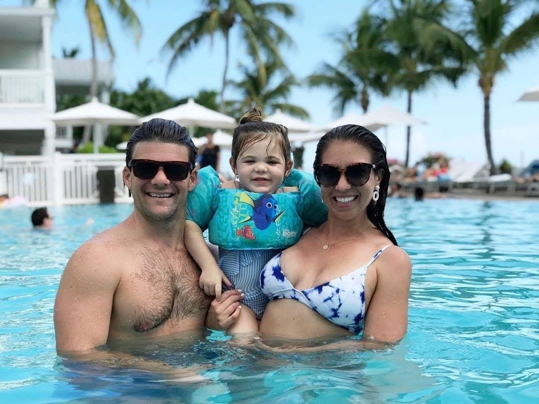
{"label": "full-crowned palm with straight thin trunk, middle of three at right", "polygon": [[[407,112],[412,112],[412,96],[434,80],[446,79],[456,85],[464,73],[465,52],[457,33],[443,24],[450,14],[446,0],[389,1],[389,19],[384,36],[391,41],[398,61],[391,85],[405,90]],[[406,128],[405,166],[410,160],[411,128]]]}

